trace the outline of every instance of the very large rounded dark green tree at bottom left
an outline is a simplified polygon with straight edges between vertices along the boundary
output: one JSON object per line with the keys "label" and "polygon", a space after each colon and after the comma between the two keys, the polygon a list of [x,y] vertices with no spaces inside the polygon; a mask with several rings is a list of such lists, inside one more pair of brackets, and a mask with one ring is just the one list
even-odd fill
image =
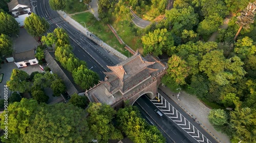
{"label": "very large rounded dark green tree at bottom left", "polygon": [[58,103],[40,107],[22,142],[92,141],[84,110],[71,104]]}

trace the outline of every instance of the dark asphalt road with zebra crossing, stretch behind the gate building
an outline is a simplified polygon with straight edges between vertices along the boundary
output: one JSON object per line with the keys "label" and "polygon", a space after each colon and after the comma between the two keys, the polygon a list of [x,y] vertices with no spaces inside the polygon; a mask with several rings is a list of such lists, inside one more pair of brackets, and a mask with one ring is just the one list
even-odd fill
{"label": "dark asphalt road with zebra crossing, stretch behind the gate building", "polygon": [[101,80],[104,79],[103,72],[108,70],[107,65],[113,66],[122,61],[110,51],[98,46],[87,36],[84,36],[79,30],[60,17],[56,11],[50,9],[49,0],[37,0],[34,10],[37,15],[45,18],[50,24],[48,33],[53,32],[57,27],[62,27],[67,31],[73,47],[73,53],[80,60],[86,61],[88,68],[97,72]]}

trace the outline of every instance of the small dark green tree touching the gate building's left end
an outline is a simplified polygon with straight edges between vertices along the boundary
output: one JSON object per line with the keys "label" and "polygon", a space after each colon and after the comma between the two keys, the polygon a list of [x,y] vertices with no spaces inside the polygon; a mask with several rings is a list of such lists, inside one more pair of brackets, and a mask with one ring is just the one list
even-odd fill
{"label": "small dark green tree touching the gate building's left end", "polygon": [[73,104],[77,107],[80,107],[82,109],[85,109],[88,106],[89,103],[89,99],[86,96],[79,96],[78,94],[74,93],[70,100],[69,100],[70,104]]}

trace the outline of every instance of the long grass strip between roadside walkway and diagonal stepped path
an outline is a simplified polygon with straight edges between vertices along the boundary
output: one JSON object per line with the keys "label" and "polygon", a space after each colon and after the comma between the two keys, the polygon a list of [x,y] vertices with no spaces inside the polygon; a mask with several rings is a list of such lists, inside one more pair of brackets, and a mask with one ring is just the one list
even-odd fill
{"label": "long grass strip between roadside walkway and diagonal stepped path", "polygon": [[[117,51],[128,56],[128,52],[125,51],[123,45],[121,45],[115,35],[112,33],[107,24],[104,24],[101,21],[96,20],[96,18],[90,12],[79,13],[71,16],[78,23],[85,22],[88,28],[88,31],[92,32],[99,39],[104,41],[106,44],[109,44],[111,47],[115,48]],[[80,23],[84,26],[83,23]]]}

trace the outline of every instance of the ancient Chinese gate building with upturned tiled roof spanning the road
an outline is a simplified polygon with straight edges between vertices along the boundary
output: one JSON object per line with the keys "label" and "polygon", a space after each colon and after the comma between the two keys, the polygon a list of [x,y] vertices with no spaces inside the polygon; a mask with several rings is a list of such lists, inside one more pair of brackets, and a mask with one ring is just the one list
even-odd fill
{"label": "ancient Chinese gate building with upturned tiled roof spanning the road", "polygon": [[166,65],[152,55],[143,58],[138,51],[116,66],[108,66],[104,81],[86,91],[91,102],[100,102],[114,108],[123,106],[129,100],[133,104],[140,96],[147,94],[151,99],[157,95],[161,77]]}

